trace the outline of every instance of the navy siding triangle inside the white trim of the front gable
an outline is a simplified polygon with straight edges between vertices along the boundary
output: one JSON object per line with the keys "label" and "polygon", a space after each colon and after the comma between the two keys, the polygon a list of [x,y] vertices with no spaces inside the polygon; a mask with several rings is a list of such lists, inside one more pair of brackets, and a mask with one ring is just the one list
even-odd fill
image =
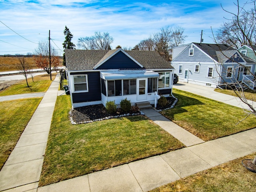
{"label": "navy siding triangle inside the white trim of the front gable", "polygon": [[136,62],[126,56],[123,52],[118,52],[109,60],[104,62],[97,69],[134,69],[141,68]]}

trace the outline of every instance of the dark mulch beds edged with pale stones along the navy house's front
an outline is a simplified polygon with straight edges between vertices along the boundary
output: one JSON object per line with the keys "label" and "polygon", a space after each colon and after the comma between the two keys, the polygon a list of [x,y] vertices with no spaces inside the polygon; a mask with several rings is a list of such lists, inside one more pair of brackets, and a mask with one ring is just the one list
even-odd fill
{"label": "dark mulch beds edged with pale stones along the navy house's front", "polygon": [[[168,104],[164,107],[156,106],[156,110],[164,110],[166,108],[170,108],[175,101],[173,97],[167,97],[169,101]],[[139,111],[138,111],[139,112]],[[130,112],[130,114],[138,114],[138,112]],[[122,110],[118,110],[116,114],[110,114],[106,112],[106,108],[102,104],[98,105],[90,105],[90,106],[83,106],[74,108],[71,112],[72,120],[76,123],[78,122],[88,122],[98,119],[104,119],[106,117],[113,117],[113,116],[121,116],[127,113],[124,113]]]}

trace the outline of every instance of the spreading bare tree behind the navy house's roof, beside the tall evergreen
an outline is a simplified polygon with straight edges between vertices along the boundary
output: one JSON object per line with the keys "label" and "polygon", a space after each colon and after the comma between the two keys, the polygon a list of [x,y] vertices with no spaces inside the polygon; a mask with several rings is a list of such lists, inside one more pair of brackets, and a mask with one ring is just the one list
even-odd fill
{"label": "spreading bare tree behind the navy house's roof, beside the tall evergreen", "polygon": [[86,50],[108,50],[114,38],[108,32],[95,32],[94,36],[78,38],[78,47]]}

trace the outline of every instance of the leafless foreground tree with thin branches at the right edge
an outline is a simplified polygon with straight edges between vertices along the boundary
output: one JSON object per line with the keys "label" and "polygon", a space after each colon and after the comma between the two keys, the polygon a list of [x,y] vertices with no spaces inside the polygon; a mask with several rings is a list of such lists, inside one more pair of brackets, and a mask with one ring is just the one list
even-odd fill
{"label": "leafless foreground tree with thin branches at the right edge", "polygon": [[[250,10],[245,9],[245,6],[248,4],[251,7]],[[216,38],[214,39],[216,43],[223,42],[223,40],[226,40],[226,42],[230,43],[230,46],[238,47],[241,44],[247,44],[253,48],[253,45],[256,43],[255,42],[256,0],[248,0],[242,6],[240,5],[239,0],[237,0],[237,2],[234,3],[234,5],[237,8],[236,13],[229,12],[222,7],[222,9],[225,12],[228,12],[229,14],[232,15],[232,18],[228,19],[229,22],[224,23],[224,25],[222,26],[223,29],[225,29],[225,30],[222,29],[222,31],[225,31],[223,35],[224,38],[223,39],[220,38],[218,40],[218,34],[217,34],[217,37],[216,37],[217,40]],[[230,33],[228,32],[228,29],[227,29],[228,26],[230,26]],[[256,56],[256,52],[255,51],[253,52],[254,52],[254,55]],[[221,54],[222,56],[229,58],[226,52],[221,52]],[[254,74],[254,71],[249,70],[248,66],[244,65],[237,58],[229,58],[229,59],[232,62],[232,66],[226,67],[226,70],[227,70],[226,76],[230,76],[231,82],[224,82],[224,83],[226,84],[226,86],[228,86],[228,88],[232,89],[235,92],[236,96],[238,96],[238,98],[243,103],[245,103],[248,106],[248,108],[244,109],[244,111],[247,114],[246,117],[248,117],[251,114],[253,114],[256,117],[256,108],[254,107],[253,102],[251,101],[253,99],[256,100],[256,98],[248,98],[245,94],[246,90],[248,90],[248,88],[250,87],[250,83],[254,84],[256,82],[255,81],[256,76]],[[246,59],[249,60],[250,62],[249,58],[246,58]],[[253,62],[256,62],[256,61],[253,61]],[[222,66],[224,65],[222,64]],[[243,77],[248,76],[249,80],[247,80],[247,82],[246,81],[240,82],[238,78],[234,78],[239,75],[239,74],[235,74],[235,72],[244,73],[246,68],[247,68],[246,74],[244,74]],[[219,74],[219,75],[222,78],[222,74]],[[256,166],[256,157],[252,161],[252,164]]]}

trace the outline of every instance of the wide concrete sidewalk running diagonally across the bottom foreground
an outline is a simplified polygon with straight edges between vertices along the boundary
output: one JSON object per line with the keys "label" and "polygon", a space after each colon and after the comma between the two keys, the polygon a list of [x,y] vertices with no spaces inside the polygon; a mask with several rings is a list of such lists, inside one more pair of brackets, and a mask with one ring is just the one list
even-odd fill
{"label": "wide concrete sidewalk running diagonally across the bottom foreground", "polygon": [[38,188],[38,192],[146,192],[256,152],[256,128]]}

